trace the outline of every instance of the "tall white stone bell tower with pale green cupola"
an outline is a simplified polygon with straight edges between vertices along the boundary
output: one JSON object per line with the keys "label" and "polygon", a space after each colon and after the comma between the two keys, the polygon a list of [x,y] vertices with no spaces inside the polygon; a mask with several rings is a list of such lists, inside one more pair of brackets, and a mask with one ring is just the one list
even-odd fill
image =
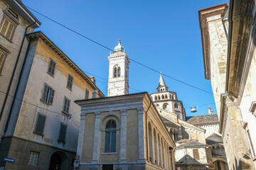
{"label": "tall white stone bell tower with pale green cupola", "polygon": [[110,53],[110,72],[107,87],[107,96],[129,94],[129,58],[124,52],[119,40],[114,52]]}

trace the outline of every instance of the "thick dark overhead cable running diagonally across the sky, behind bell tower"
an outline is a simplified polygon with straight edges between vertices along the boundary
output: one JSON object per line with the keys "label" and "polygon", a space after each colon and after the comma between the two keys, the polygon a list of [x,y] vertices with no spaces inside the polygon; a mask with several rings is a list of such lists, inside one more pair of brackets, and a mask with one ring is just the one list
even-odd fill
{"label": "thick dark overhead cable running diagonally across the sky, behind bell tower", "polygon": [[[77,34],[77,35],[80,35],[82,38],[85,38],[85,39],[87,39],[87,40],[90,40],[91,42],[94,42],[95,44],[100,45],[101,47],[104,47],[105,49],[114,52],[114,50],[112,50],[110,47],[107,47],[107,46],[105,46],[105,45],[102,45],[100,42],[97,42],[97,41],[95,41],[95,40],[92,40],[91,38],[88,38],[87,36],[82,35],[81,33],[78,33],[77,31],[75,31],[75,30],[73,30],[73,29],[71,29],[71,28],[68,28],[68,26],[64,26],[62,23],[59,23],[58,21],[53,20],[52,18],[50,18],[50,17],[44,15],[43,13],[40,13],[40,12],[34,10],[33,8],[30,8],[29,6],[26,6],[26,7],[29,8],[29,9],[31,9],[31,11],[34,11],[35,13],[38,13],[39,15],[41,15],[41,16],[43,16],[43,17],[45,17],[45,18],[48,18],[48,20],[52,21],[53,23],[56,23],[56,24],[58,24],[59,26],[62,26],[63,28],[66,28],[66,29],[70,30],[71,32],[73,32],[73,33],[75,33],[75,34]],[[208,93],[208,94],[213,94],[213,93],[210,92],[210,91],[206,91],[206,90],[201,89],[201,88],[199,88],[199,87],[197,87],[197,86],[193,86],[192,84],[188,84],[188,83],[186,83],[186,82],[184,82],[184,81],[178,80],[178,79],[176,79],[176,78],[174,78],[174,77],[171,77],[171,76],[169,76],[169,75],[167,75],[167,74],[161,73],[161,72],[157,71],[156,69],[153,69],[153,68],[151,68],[151,67],[149,67],[149,66],[147,66],[147,65],[145,65],[145,64],[142,64],[141,62],[137,62],[136,60],[133,60],[132,58],[129,58],[129,60],[131,60],[132,62],[135,62],[135,63],[137,63],[137,64],[139,64],[139,65],[141,65],[141,66],[143,66],[143,67],[146,67],[147,69],[150,69],[150,70],[153,71],[153,72],[162,74],[162,75],[164,75],[164,76],[166,76],[166,77],[168,77],[168,78],[170,78],[170,79],[173,79],[174,81],[178,81],[178,82],[181,83],[181,84],[184,84],[184,85],[186,85],[186,86],[191,86],[191,87],[194,88],[194,89],[198,89],[198,90],[203,91],[203,92],[206,92],[206,93]],[[218,95],[218,94],[213,94],[213,95],[220,96],[220,95]]]}

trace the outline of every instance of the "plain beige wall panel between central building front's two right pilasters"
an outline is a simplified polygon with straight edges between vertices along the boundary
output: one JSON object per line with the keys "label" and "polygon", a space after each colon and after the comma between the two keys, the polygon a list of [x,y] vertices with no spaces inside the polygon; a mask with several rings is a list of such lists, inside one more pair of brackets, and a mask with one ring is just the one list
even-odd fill
{"label": "plain beige wall panel between central building front's two right pilasters", "polygon": [[139,159],[138,111],[127,111],[127,162],[136,162]]}

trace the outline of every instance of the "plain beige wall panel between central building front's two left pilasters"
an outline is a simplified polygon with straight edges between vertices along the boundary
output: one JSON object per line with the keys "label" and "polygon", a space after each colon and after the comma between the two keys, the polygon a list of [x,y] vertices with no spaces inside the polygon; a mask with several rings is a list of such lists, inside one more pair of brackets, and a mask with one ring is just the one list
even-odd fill
{"label": "plain beige wall panel between central building front's two left pilasters", "polygon": [[92,161],[92,148],[93,148],[93,136],[95,127],[95,113],[86,114],[85,117],[85,130],[82,145],[82,155],[81,162],[91,162]]}

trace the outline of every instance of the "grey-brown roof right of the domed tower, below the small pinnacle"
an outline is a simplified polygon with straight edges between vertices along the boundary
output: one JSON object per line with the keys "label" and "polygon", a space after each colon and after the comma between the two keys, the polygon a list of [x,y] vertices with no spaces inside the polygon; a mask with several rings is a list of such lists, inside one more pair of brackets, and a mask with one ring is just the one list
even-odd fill
{"label": "grey-brown roof right of the domed tower, below the small pinnacle", "polygon": [[187,117],[186,121],[192,125],[203,125],[203,124],[215,124],[219,123],[218,115],[195,115],[192,117]]}

